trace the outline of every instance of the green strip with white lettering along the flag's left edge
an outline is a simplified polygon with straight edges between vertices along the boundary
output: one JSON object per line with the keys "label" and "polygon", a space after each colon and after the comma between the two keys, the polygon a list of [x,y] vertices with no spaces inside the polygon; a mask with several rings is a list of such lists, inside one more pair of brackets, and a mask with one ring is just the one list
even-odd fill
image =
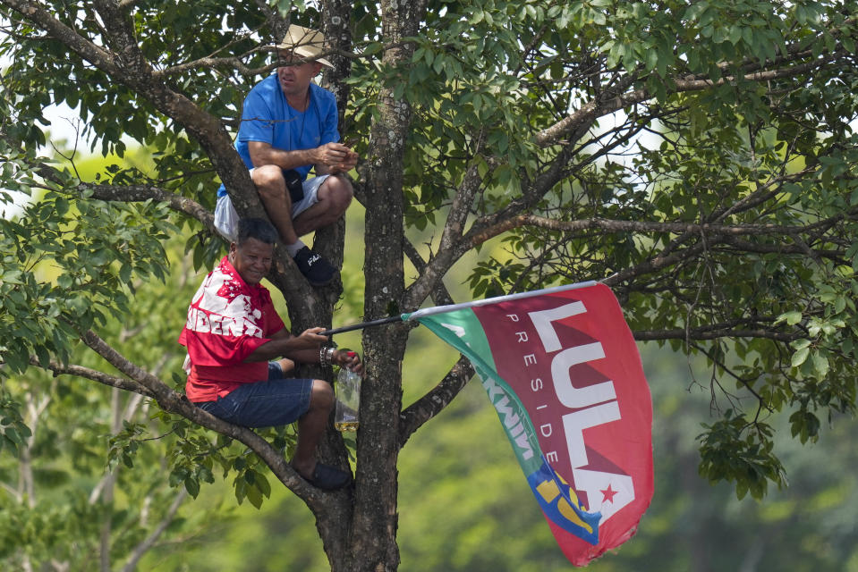
{"label": "green strip with white lettering along the flag's left edge", "polygon": [[[407,319],[407,315],[404,315],[403,319]],[[531,416],[515,391],[497,374],[495,359],[477,316],[470,308],[463,308],[424,315],[419,317],[418,321],[471,360],[482,380],[483,388],[488,393],[488,399],[504,425],[504,431],[524,475],[538,471],[542,466],[542,450],[539,449]]]}

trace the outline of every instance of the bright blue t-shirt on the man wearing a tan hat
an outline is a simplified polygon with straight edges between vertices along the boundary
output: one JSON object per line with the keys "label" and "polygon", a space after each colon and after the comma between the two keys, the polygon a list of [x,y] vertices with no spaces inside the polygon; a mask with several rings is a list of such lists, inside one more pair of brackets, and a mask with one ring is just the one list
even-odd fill
{"label": "bright blue t-shirt on the man wearing a tan hat", "polygon": [[[242,123],[238,128],[235,150],[242,156],[248,169],[253,168],[249,141],[262,141],[271,147],[294,151],[311,149],[340,140],[336,129],[336,97],[327,89],[310,84],[310,104],[305,112],[300,112],[288,103],[280,88],[277,74],[269,75],[265,80],[253,86],[244,99]],[[295,167],[301,173],[302,180],[313,165]],[[217,189],[217,196],[226,194],[224,185]]]}

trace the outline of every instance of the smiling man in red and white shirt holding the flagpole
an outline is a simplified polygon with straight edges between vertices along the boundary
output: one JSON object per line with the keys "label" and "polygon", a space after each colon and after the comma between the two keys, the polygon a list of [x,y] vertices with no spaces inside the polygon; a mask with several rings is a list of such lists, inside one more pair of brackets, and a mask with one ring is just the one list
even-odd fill
{"label": "smiling man in red and white shirt holding the flagpole", "polygon": [[[330,362],[363,372],[353,352],[323,348],[324,328],[295,337],[277,315],[268,274],[277,231],[267,221],[242,219],[229,254],[208,273],[188,308],[179,343],[188,349],[188,399],[234,425],[269,427],[298,421],[292,465],[310,484],[338,489],[348,473],[316,460],[316,446],[334,405],[330,383],[285,377],[295,363]],[[277,359],[277,361],[268,361]]]}

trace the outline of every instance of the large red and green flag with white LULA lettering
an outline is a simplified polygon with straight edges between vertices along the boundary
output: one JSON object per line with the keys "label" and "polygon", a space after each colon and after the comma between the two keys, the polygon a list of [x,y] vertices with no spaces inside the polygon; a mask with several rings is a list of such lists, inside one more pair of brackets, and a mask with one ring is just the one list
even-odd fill
{"label": "large red and green flag with white LULA lettering", "polygon": [[653,492],[652,402],[607,286],[584,282],[403,319],[418,320],[471,360],[574,565],[635,533]]}

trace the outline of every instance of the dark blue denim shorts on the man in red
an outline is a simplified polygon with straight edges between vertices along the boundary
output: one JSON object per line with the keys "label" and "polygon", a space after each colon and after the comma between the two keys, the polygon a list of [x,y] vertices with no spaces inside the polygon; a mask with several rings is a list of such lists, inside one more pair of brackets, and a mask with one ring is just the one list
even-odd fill
{"label": "dark blue denim shorts on the man in red", "polygon": [[313,380],[283,377],[280,365],[268,364],[268,381],[242,383],[217,401],[197,407],[233,425],[274,427],[289,425],[310,410]]}

